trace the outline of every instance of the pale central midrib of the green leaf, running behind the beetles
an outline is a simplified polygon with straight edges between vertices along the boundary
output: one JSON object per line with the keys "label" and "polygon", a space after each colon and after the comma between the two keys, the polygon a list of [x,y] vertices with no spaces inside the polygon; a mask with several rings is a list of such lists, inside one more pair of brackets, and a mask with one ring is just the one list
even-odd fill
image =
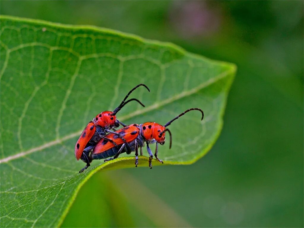
{"label": "pale central midrib of the green leaf, running behind the beetles", "polygon": [[[135,112],[132,112],[132,113],[130,113],[129,115],[122,116],[122,117],[120,117],[120,119],[121,119],[121,121],[124,121],[124,120],[130,119],[130,118],[132,118],[132,117],[141,115],[141,114],[143,114],[143,113],[146,113],[146,112],[152,111],[152,110],[154,110],[154,109],[157,109],[157,108],[159,108],[159,107],[161,107],[161,106],[164,106],[164,105],[166,105],[166,104],[169,104],[169,103],[171,103],[171,102],[173,102],[173,101],[175,101],[175,100],[178,100],[178,99],[181,99],[181,98],[183,98],[183,97],[192,95],[192,94],[198,92],[199,90],[201,90],[201,89],[203,89],[203,88],[205,88],[205,87],[211,85],[212,83],[215,83],[216,81],[218,81],[218,80],[220,80],[220,79],[226,77],[227,75],[233,73],[234,71],[235,71],[235,69],[232,68],[231,71],[226,71],[226,72],[224,72],[224,73],[222,73],[222,74],[219,74],[218,76],[209,79],[208,81],[206,81],[205,83],[199,85],[199,86],[196,87],[196,88],[192,88],[191,90],[188,90],[188,91],[183,91],[183,92],[181,92],[180,94],[178,94],[178,95],[176,95],[176,96],[173,96],[172,98],[168,98],[168,99],[163,100],[163,101],[161,101],[161,102],[157,102],[157,103],[155,103],[155,104],[153,104],[153,105],[147,106],[146,108],[143,108],[143,109],[137,110],[137,111],[135,111]],[[57,122],[57,123],[58,123],[58,122]],[[12,156],[2,158],[2,159],[0,160],[0,163],[5,163],[5,162],[8,162],[8,161],[17,159],[17,158],[19,158],[19,157],[23,157],[23,156],[25,156],[25,155],[27,155],[27,154],[31,154],[31,153],[34,153],[34,152],[43,150],[43,149],[45,149],[45,148],[48,148],[48,147],[51,147],[51,146],[60,144],[60,143],[62,143],[62,142],[64,142],[64,141],[66,141],[66,140],[69,140],[69,139],[71,139],[71,138],[74,138],[74,137],[79,136],[79,135],[81,134],[81,132],[82,132],[82,130],[79,130],[79,131],[77,131],[77,132],[74,132],[74,133],[71,133],[71,134],[69,134],[69,135],[67,135],[67,136],[62,137],[61,139],[57,139],[57,140],[51,141],[51,142],[49,142],[49,143],[45,143],[45,144],[43,144],[43,145],[41,145],[41,146],[39,146],[39,147],[35,147],[35,148],[30,149],[30,150],[20,152],[20,153],[18,153],[18,154],[14,154],[14,155],[12,155]]]}

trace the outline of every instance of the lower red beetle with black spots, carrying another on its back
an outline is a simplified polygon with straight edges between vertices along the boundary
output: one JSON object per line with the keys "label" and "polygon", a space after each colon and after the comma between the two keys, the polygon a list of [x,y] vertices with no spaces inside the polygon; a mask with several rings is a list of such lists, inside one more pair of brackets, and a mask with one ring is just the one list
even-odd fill
{"label": "lower red beetle with black spots, carrying another on its back", "polygon": [[[204,118],[204,112],[201,109],[198,108],[192,108],[188,109],[185,112],[181,113],[180,115],[176,116],[174,119],[170,120],[168,123],[166,123],[164,126],[161,124],[155,123],[155,122],[147,122],[143,124],[132,124],[129,126],[126,126],[124,128],[121,128],[117,130],[115,133],[118,133],[120,136],[122,136],[126,141],[123,141],[121,137],[119,137],[117,134],[110,133],[105,136],[105,138],[102,138],[96,146],[90,146],[84,150],[84,156],[86,157],[86,166],[85,168],[81,169],[79,172],[84,171],[86,168],[90,166],[90,163],[94,159],[104,159],[111,157],[109,159],[106,159],[105,161],[110,161],[112,159],[115,159],[119,156],[119,154],[126,152],[126,154],[130,154],[132,151],[135,151],[135,166],[138,165],[138,147],[140,147],[140,155],[142,155],[142,147],[144,146],[144,142],[147,144],[147,151],[149,154],[149,167],[152,168],[152,159],[153,154],[149,147],[149,143],[155,143],[156,142],[156,148],[154,156],[155,158],[163,163],[158,157],[158,143],[161,145],[164,145],[165,143],[165,132],[168,131],[170,135],[170,146],[171,149],[172,145],[172,139],[171,139],[171,132],[169,129],[166,129],[167,126],[169,126],[174,120],[178,119],[179,117],[185,115],[185,113],[192,111],[192,110],[198,110],[202,113],[202,119]],[[202,120],[201,119],[201,120]],[[110,141],[115,142],[119,147],[115,147],[113,143],[110,143]],[[112,157],[113,156],[113,157]]]}

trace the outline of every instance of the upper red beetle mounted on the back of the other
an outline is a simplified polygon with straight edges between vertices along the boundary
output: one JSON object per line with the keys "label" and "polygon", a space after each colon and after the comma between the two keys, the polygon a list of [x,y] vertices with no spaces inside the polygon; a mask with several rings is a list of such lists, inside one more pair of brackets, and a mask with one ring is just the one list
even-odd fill
{"label": "upper red beetle mounted on the back of the other", "polygon": [[[85,161],[85,157],[82,156],[83,150],[98,142],[101,138],[105,138],[106,133],[113,133],[118,135],[118,133],[115,133],[113,131],[110,131],[113,127],[117,128],[119,127],[119,124],[126,126],[125,124],[121,123],[118,119],[116,119],[116,113],[119,112],[120,109],[123,108],[127,103],[130,101],[137,101],[144,107],[144,105],[137,99],[132,98],[128,101],[126,99],[128,96],[138,87],[144,86],[147,88],[147,90],[150,92],[150,89],[144,85],[144,84],[139,84],[135,86],[133,89],[130,90],[130,92],[126,95],[126,97],[123,99],[123,101],[120,103],[120,105],[114,109],[113,112],[111,111],[105,111],[99,113],[92,121],[88,123],[88,125],[85,127],[83,132],[81,133],[81,136],[79,137],[76,145],[75,145],[75,157],[77,160],[81,158],[81,160]],[[112,140],[108,139],[110,142],[113,143],[113,146],[117,146],[115,142]],[[125,141],[125,139],[122,137],[122,140]]]}

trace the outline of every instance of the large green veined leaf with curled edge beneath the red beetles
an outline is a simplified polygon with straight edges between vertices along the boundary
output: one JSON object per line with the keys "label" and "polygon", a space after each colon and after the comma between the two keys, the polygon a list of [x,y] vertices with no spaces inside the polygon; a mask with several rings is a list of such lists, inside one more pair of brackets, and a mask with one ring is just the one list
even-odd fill
{"label": "large green veined leaf with curled edge beneath the red beetles", "polygon": [[[203,109],[203,121],[194,111],[171,124],[171,150],[168,142],[159,147],[164,165],[195,162],[219,136],[236,71],[170,43],[9,16],[1,17],[0,63],[1,227],[59,226],[92,174],[134,167],[132,153],[93,161],[79,174],[85,164],[76,161],[74,145],[96,114],[113,110],[139,83],[151,92],[132,96],[146,107],[130,103],[119,120],[164,124],[188,108]],[[148,168],[147,157],[139,162]]]}

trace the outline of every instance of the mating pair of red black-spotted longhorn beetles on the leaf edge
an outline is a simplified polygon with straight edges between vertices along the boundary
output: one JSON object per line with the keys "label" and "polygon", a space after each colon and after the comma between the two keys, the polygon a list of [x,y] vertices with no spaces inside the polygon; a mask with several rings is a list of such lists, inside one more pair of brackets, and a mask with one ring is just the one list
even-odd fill
{"label": "mating pair of red black-spotted longhorn beetles on the leaf edge", "polygon": [[[140,85],[145,86],[149,90],[149,88],[146,85],[144,84],[140,84]],[[142,106],[144,106],[140,101],[134,98],[125,102],[126,98],[130,95],[130,93],[140,85],[137,85],[128,93],[128,95],[125,97],[123,102],[119,105],[118,108],[116,108],[118,109],[118,111],[127,102],[130,102],[131,100],[136,100]],[[106,111],[106,112],[102,112],[101,114],[106,113],[106,115],[114,117],[118,112],[116,111],[116,109],[113,112]],[[105,159],[111,157],[109,159],[106,159],[105,160],[106,162],[117,158],[119,154],[122,154],[124,152],[126,152],[126,154],[130,154],[132,151],[135,151],[135,166],[137,167],[138,147],[140,148],[140,155],[143,155],[142,147],[144,146],[145,142],[147,144],[147,151],[149,154],[149,167],[152,168],[151,162],[153,159],[153,154],[149,147],[149,144],[151,143],[156,143],[154,156],[159,162],[163,163],[163,161],[161,161],[157,157],[157,153],[158,153],[158,143],[161,145],[164,145],[165,143],[166,131],[168,131],[170,135],[169,148],[171,148],[172,145],[171,132],[169,129],[166,129],[166,127],[169,126],[174,120],[178,119],[179,117],[185,115],[185,113],[192,110],[200,111],[202,113],[202,119],[203,119],[204,112],[201,109],[192,108],[192,109],[187,109],[185,112],[182,112],[180,115],[170,120],[164,126],[155,122],[147,122],[143,124],[131,124],[126,126],[123,123],[119,122],[118,120],[115,120],[115,122],[113,122],[113,120],[116,119],[116,116],[113,119],[110,118],[112,122],[106,122],[107,124],[100,125],[99,123],[96,122],[98,120],[97,117],[104,117],[104,115],[101,116],[97,115],[95,118],[96,121],[93,119],[93,121],[91,121],[86,126],[85,130],[82,132],[75,146],[75,156],[77,160],[81,158],[81,160],[86,163],[86,166],[82,168],[79,172],[81,173],[86,168],[88,168],[90,166],[90,163],[94,159]],[[111,129],[112,127],[118,127],[119,124],[123,125],[124,127],[115,132],[109,131],[109,129]],[[105,133],[109,133],[109,134],[105,135]]]}

